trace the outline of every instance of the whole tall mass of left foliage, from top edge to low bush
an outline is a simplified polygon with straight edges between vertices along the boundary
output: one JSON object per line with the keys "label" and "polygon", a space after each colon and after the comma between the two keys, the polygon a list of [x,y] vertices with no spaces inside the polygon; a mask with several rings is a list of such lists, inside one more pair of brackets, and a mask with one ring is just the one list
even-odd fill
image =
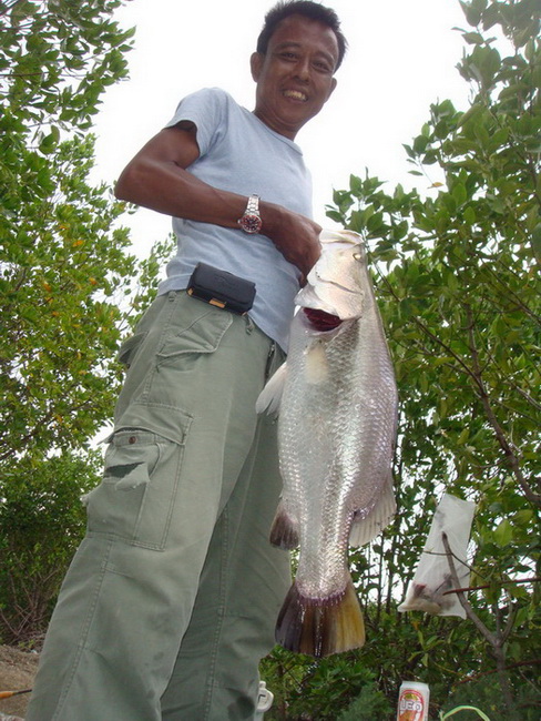
{"label": "whole tall mass of left foliage, from top edge to low bush", "polygon": [[84,443],[110,412],[111,301],[135,261],[83,131],[126,74],[119,4],[0,2],[0,463]]}

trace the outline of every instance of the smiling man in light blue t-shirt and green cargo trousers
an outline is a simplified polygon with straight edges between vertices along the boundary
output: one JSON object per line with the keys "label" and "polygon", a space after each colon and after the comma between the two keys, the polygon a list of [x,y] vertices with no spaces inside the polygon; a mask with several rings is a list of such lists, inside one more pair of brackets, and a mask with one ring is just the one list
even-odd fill
{"label": "smiling man in light blue t-shirt and green cargo trousers", "polygon": [[[28,721],[254,717],[289,585],[288,558],[268,542],[276,428],[254,406],[319,255],[294,139],[345,52],[336,14],[317,3],[279,3],[265,20],[254,112],[217,89],[188,95],[118,182],[119,197],[173,216],[178,252],[120,352],[129,370],[105,474]],[[248,314],[186,293],[198,262],[217,268],[211,278],[255,282]]]}

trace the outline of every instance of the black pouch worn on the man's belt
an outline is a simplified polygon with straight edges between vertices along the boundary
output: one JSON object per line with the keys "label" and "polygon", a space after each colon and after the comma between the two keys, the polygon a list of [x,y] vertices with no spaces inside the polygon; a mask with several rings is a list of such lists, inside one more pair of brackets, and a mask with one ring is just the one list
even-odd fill
{"label": "black pouch worn on the man's belt", "polygon": [[254,304],[255,283],[206,263],[197,263],[187,293],[218,308],[244,315]]}

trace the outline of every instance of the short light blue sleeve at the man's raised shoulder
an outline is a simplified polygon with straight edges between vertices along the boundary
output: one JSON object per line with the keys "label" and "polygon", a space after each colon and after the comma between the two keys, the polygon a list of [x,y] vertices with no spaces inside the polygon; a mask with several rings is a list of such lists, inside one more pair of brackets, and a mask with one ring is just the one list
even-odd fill
{"label": "short light blue sleeve at the man's raised shoulder", "polygon": [[205,88],[186,95],[178,103],[175,114],[165,128],[173,128],[182,122],[191,122],[196,128],[197,144],[201,155],[223,136],[227,122],[227,93],[218,88]]}

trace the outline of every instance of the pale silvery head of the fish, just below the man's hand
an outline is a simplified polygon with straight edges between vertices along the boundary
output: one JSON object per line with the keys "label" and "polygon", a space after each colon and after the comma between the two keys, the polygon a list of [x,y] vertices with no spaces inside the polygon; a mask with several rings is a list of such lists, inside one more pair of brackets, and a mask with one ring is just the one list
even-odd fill
{"label": "pale silvery head of the fish, just below the man's hand", "polygon": [[[353,231],[323,231],[321,255],[295,298],[302,308],[312,308],[341,322],[363,313],[366,252],[363,240]],[[308,313],[309,315],[309,313]]]}

